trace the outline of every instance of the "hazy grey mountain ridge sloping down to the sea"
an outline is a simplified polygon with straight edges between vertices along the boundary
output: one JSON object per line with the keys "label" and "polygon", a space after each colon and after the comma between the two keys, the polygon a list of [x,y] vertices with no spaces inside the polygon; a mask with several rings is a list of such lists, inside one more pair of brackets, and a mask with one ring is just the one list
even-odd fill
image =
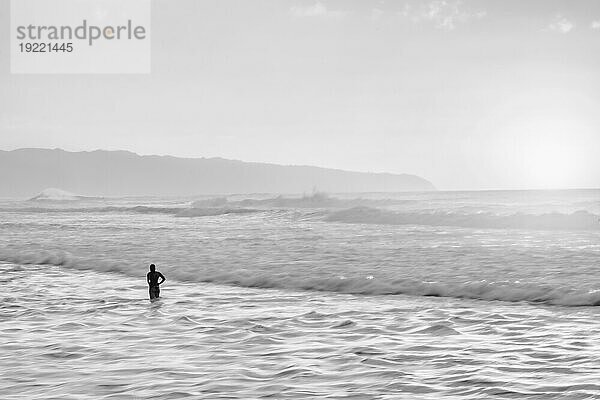
{"label": "hazy grey mountain ridge sloping down to the sea", "polygon": [[0,150],[0,181],[2,197],[32,196],[49,187],[86,196],[436,190],[410,174],[58,148]]}

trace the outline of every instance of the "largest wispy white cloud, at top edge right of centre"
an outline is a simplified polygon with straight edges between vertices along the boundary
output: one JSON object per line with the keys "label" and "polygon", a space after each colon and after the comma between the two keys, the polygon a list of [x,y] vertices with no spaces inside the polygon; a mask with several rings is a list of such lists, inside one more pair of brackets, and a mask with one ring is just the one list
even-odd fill
{"label": "largest wispy white cloud, at top edge right of centre", "polygon": [[486,12],[465,10],[460,0],[434,0],[416,7],[405,4],[400,15],[415,23],[429,22],[438,29],[451,31],[458,24],[485,17]]}

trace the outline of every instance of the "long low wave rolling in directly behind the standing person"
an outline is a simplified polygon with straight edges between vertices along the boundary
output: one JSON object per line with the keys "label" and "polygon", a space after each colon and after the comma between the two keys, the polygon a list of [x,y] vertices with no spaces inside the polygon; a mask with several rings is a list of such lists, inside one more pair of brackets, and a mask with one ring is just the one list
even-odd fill
{"label": "long low wave rolling in directly behind the standing person", "polygon": [[[13,252],[0,250],[0,261],[14,264],[55,265],[78,270],[139,274],[139,266],[119,261],[86,259],[63,251]],[[518,282],[426,282],[415,279],[303,277],[255,274],[248,270],[198,273],[189,268],[172,268],[163,271],[181,282],[212,282],[251,288],[271,288],[334,292],[360,295],[412,295],[450,297],[505,302],[531,302],[560,306],[598,306],[600,290],[567,289],[534,283]]]}

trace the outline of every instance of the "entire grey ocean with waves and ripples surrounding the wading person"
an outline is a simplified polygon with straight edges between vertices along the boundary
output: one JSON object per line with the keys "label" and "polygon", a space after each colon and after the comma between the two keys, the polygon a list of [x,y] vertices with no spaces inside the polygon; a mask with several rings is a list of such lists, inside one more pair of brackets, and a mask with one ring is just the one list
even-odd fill
{"label": "entire grey ocean with waves and ripples surrounding the wading person", "polygon": [[600,398],[600,190],[4,199],[0,232],[2,399]]}

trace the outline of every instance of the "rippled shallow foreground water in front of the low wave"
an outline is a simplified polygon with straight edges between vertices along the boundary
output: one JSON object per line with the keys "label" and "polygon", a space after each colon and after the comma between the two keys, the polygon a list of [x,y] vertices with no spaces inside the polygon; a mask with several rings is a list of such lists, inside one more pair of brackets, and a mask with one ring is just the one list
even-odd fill
{"label": "rippled shallow foreground water in front of the low wave", "polygon": [[1,273],[3,399],[600,393],[591,309],[192,283],[150,303],[129,277],[11,264]]}

